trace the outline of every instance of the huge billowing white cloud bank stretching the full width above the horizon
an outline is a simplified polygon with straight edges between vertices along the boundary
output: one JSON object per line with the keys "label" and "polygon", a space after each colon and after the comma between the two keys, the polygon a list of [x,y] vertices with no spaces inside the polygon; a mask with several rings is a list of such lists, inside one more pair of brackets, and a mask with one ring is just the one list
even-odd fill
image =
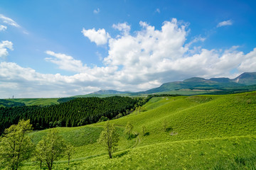
{"label": "huge billowing white cloud bank stretching the full width above the horizon", "polygon": [[[164,21],[159,30],[143,21],[139,25],[140,30],[129,33],[128,23],[114,24],[112,27],[120,31],[115,38],[104,28],[82,29],[91,42],[107,45],[108,55],[102,57],[104,67],[88,67],[74,56],[46,51],[47,62],[74,72],[72,76],[41,74],[35,69],[1,62],[1,93],[6,96],[16,93],[22,97],[60,97],[100,89],[143,91],[189,77],[235,77],[242,72],[256,72],[256,48],[244,54],[238,46],[228,50],[195,46],[195,42],[203,42],[206,38],[198,36],[188,42],[188,25],[176,18]],[[12,49],[11,42],[2,41],[0,56],[8,55],[8,49]]]}

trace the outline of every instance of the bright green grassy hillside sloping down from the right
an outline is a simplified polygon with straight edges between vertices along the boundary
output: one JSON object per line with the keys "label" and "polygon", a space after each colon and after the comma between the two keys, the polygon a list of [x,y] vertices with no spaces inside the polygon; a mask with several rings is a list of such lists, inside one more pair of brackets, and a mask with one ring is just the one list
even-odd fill
{"label": "bright green grassy hillside sloping down from the right", "polygon": [[[255,111],[256,92],[151,98],[141,112],[111,120],[120,135],[113,159],[97,143],[104,122],[58,128],[75,154],[69,167],[63,157],[55,169],[255,169]],[[124,135],[128,121],[139,134],[132,140]],[[47,131],[32,132],[33,142]],[[28,161],[21,169],[38,165]]]}

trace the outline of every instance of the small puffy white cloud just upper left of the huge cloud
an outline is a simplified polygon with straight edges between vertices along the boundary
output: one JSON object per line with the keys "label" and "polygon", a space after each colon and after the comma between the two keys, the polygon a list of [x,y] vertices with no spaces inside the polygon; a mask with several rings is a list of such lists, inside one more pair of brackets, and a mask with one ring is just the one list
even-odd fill
{"label": "small puffy white cloud just upper left of the huge cloud", "polygon": [[89,38],[91,42],[95,42],[96,45],[105,45],[110,38],[110,34],[106,33],[104,28],[98,30],[95,30],[95,28],[89,30],[82,28],[82,34]]}

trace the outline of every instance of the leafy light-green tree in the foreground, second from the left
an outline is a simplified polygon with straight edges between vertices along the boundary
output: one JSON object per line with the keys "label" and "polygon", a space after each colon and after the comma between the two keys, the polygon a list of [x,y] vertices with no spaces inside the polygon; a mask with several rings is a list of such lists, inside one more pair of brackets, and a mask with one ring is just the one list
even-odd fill
{"label": "leafy light-green tree in the foreground, second from the left", "polygon": [[36,160],[46,164],[48,169],[53,168],[53,162],[65,154],[65,141],[55,129],[49,130],[48,134],[36,145]]}

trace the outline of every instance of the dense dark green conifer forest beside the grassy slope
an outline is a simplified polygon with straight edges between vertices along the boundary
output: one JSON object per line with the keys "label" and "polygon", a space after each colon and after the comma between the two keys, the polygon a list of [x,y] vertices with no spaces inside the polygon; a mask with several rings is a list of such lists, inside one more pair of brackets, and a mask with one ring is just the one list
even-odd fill
{"label": "dense dark green conifer forest beside the grassy slope", "polygon": [[[70,99],[70,98],[69,98]],[[51,106],[16,106],[0,108],[0,134],[18,120],[31,120],[34,130],[75,127],[111,120],[131,113],[149,98],[113,96],[108,98],[72,98]]]}

